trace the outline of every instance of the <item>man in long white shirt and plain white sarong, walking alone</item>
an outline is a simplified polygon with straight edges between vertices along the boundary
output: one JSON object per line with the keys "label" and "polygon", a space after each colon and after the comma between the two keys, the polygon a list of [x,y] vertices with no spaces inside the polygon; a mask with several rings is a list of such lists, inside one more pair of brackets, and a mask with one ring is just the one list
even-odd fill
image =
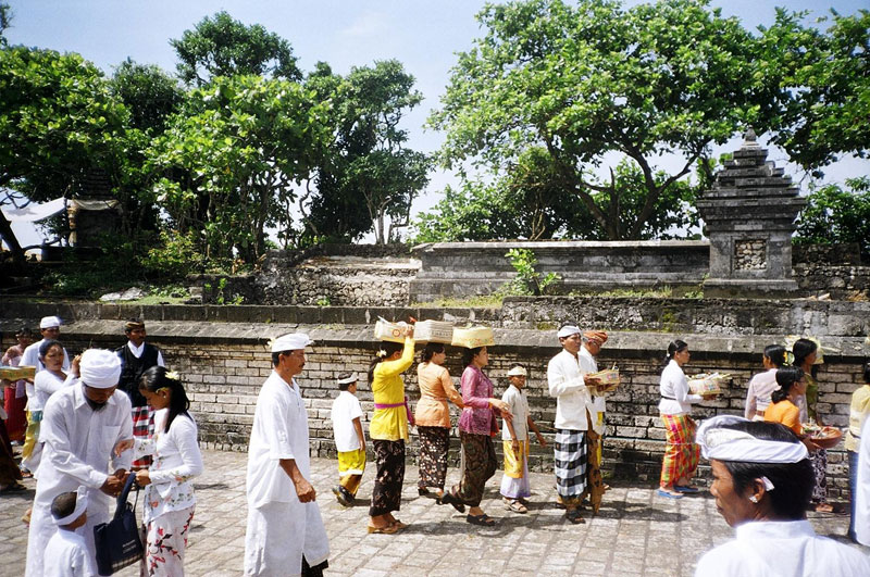
{"label": "man in long white shirt and plain white sarong, walking alone", "polygon": [[308,413],[294,378],[306,363],[308,335],[272,342],[274,371],[257,399],[248,443],[245,575],[322,575],[330,542],[314,502]]}

